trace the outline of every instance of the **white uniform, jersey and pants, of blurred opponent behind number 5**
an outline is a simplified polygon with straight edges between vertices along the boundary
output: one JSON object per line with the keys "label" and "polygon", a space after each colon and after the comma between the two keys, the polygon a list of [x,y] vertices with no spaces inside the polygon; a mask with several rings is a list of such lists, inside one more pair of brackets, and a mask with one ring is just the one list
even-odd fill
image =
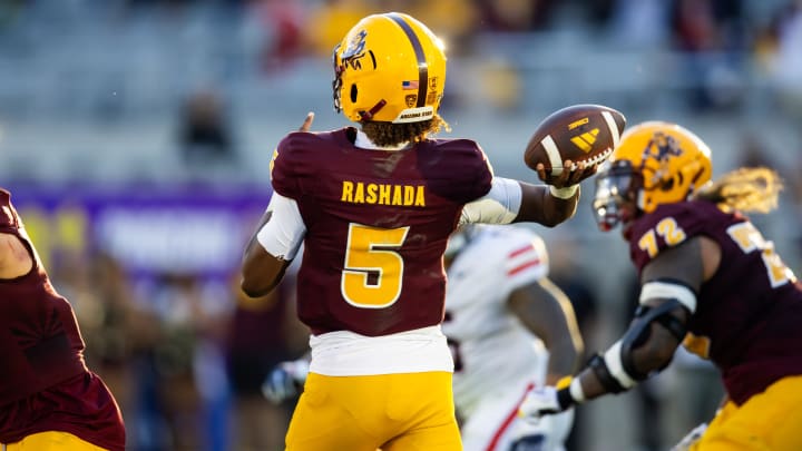
{"label": "white uniform, jersey and pants, of blurred opponent behind number 5", "polygon": [[518,405],[546,379],[548,351],[507,308],[509,294],[548,274],[542,239],[517,226],[472,226],[449,267],[443,332],[454,357],[454,402],[466,451],[563,451],[574,411],[537,423]]}

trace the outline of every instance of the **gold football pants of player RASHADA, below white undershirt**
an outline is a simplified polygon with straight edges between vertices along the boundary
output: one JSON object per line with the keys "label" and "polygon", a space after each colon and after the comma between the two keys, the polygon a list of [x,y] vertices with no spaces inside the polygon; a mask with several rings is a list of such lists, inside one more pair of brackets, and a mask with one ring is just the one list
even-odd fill
{"label": "gold football pants of player RASHADA, below white undershirt", "polygon": [[310,373],[288,451],[459,451],[451,373]]}

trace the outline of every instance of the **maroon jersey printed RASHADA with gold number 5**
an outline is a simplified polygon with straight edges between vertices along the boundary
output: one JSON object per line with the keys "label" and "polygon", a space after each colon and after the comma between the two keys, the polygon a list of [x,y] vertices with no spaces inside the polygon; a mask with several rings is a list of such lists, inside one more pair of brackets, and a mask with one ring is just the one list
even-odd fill
{"label": "maroon jersey printed RASHADA with gold number 5", "polygon": [[490,190],[487,158],[467,139],[361,149],[355,133],[293,133],[278,144],[273,188],[296,200],[306,225],[299,316],[314,334],[439,324],[442,253],[462,206]]}

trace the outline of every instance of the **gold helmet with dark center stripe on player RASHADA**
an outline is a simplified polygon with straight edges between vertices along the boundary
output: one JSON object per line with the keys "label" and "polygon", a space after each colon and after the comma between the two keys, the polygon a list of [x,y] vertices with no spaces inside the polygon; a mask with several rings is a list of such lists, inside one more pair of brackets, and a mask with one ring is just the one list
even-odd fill
{"label": "gold helmet with dark center stripe on player RASHADA", "polygon": [[408,14],[368,16],[334,48],[334,109],[349,119],[419,122],[446,86],[443,43]]}

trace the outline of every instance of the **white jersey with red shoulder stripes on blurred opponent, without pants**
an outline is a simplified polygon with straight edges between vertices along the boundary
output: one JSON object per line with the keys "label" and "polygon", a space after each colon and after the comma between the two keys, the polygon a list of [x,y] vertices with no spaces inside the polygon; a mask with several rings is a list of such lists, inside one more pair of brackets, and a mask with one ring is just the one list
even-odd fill
{"label": "white jersey with red shoulder stripes on blurred opponent, without pants", "polygon": [[548,274],[546,245],[527,228],[475,227],[448,269],[443,323],[463,415],[492,392],[542,384],[548,359],[542,342],[507,308],[514,290]]}

